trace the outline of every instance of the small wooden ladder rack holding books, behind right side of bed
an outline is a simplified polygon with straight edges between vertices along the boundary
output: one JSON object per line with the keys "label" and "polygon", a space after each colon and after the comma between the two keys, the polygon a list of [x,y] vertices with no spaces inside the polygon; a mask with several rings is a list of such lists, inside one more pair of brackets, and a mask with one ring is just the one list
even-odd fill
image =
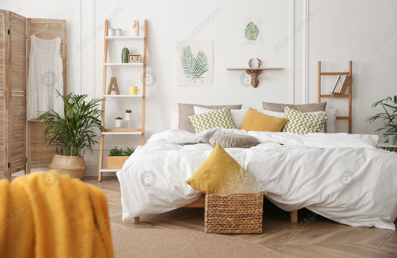
{"label": "small wooden ladder rack holding books, behind right side of bed", "polygon": [[[337,116],[336,119],[349,120],[349,134],[351,134],[351,100],[352,100],[352,61],[348,62],[349,72],[321,72],[321,61],[317,61],[317,100],[318,103],[321,102],[322,98],[349,98],[349,116]],[[349,94],[321,94],[321,76],[323,75],[348,75],[349,76]]]}

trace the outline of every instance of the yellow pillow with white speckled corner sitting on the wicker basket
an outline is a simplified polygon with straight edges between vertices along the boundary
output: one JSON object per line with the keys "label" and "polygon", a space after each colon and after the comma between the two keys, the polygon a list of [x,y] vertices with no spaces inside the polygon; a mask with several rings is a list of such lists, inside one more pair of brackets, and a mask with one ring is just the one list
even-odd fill
{"label": "yellow pillow with white speckled corner sitting on the wicker basket", "polygon": [[262,190],[262,184],[219,144],[186,183],[207,194],[256,194]]}

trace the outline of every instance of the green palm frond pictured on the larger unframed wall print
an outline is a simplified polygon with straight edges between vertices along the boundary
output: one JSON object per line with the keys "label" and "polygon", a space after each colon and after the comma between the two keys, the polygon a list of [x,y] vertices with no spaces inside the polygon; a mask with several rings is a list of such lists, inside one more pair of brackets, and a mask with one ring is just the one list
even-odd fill
{"label": "green palm frond pictured on the larger unframed wall print", "polygon": [[205,79],[202,75],[208,71],[208,59],[204,51],[198,51],[196,57],[189,45],[183,47],[181,53],[181,64],[183,73],[187,79],[191,79],[191,81],[194,79],[194,82],[196,82],[197,79],[202,81],[200,78]]}

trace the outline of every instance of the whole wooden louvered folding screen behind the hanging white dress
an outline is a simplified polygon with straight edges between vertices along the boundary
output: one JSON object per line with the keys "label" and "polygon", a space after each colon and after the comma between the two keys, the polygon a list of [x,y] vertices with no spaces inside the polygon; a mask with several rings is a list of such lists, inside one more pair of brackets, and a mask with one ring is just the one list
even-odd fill
{"label": "whole wooden louvered folding screen behind the hanging white dress", "polygon": [[[45,21],[45,22],[44,22]],[[47,20],[25,18],[0,10],[0,176],[31,168],[44,168],[51,162],[55,147],[43,144],[43,122],[26,122],[26,87],[30,41],[26,35],[45,30]],[[48,19],[48,30],[66,39],[66,20]],[[49,32],[37,35],[54,39]],[[66,93],[66,43],[61,43],[64,93]]]}

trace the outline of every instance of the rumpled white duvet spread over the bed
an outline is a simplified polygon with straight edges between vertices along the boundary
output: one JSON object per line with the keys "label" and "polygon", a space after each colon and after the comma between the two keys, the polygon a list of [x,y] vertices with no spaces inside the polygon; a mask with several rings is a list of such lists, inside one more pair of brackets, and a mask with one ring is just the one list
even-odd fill
{"label": "rumpled white duvet spread over the bed", "polygon": [[138,147],[117,172],[123,220],[170,211],[200,196],[185,181],[206,160],[218,134],[258,139],[249,149],[225,149],[262,183],[285,211],[308,208],[351,226],[395,229],[397,154],[367,134],[293,134],[214,128],[200,134],[166,130]]}

